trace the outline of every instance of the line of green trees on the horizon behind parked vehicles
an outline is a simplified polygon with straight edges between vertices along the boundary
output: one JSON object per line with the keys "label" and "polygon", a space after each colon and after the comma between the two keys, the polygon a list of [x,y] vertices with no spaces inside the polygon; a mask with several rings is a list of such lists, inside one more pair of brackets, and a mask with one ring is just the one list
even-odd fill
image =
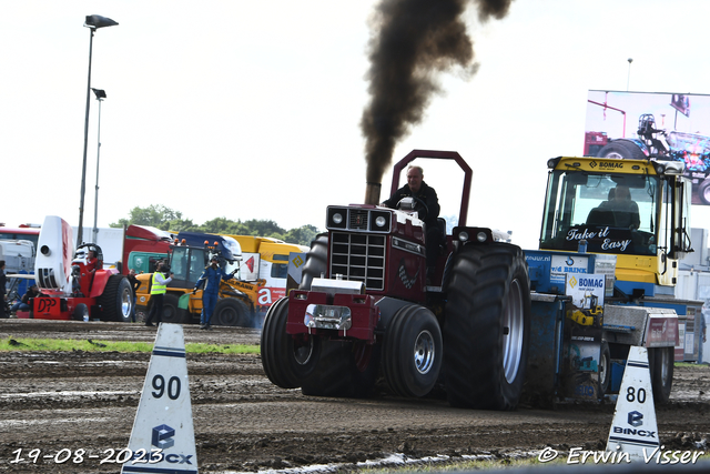
{"label": "line of green trees on the horizon behind parked vehicles", "polygon": [[192,222],[191,219],[184,219],[180,211],[155,204],[149,205],[148,208],[135,206],[130,211],[128,219],[119,219],[118,222],[109,225],[112,228],[122,228],[131,224],[150,225],[170,232],[189,231],[213,234],[267,236],[301,245],[311,245],[311,241],[313,241],[320,232],[315,225],[302,225],[300,228],[285,230],[274,221],[257,219],[242,222],[241,220],[233,221],[226,218],[215,218],[199,225]]}

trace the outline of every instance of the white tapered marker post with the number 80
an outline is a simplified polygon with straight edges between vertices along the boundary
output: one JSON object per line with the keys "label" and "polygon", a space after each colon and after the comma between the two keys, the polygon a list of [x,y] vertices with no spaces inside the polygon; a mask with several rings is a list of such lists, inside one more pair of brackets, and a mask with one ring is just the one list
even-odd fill
{"label": "white tapered marker post with the number 80", "polygon": [[648,349],[631,346],[623,371],[607,451],[630,460],[645,460],[660,447]]}

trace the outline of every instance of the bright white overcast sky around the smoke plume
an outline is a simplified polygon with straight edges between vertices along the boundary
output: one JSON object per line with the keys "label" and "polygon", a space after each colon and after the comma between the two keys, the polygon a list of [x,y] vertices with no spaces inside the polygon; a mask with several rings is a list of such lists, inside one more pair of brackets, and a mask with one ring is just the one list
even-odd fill
{"label": "bright white overcast sky around the smoke plume", "polygon": [[[0,1],[0,222],[79,222],[89,29],[101,108],[99,226],[163,204],[196,224],[225,216],[324,229],[363,201],[368,18],[376,0]],[[467,14],[478,73],[397,144],[458,151],[474,170],[468,223],[536,248],[551,157],[582,153],[590,89],[710,93],[706,0],[516,0]],[[629,69],[628,58],[633,62]],[[93,224],[98,102],[91,100],[84,226]],[[452,170],[425,165],[446,205]],[[388,194],[390,177],[383,183]],[[454,202],[454,204],[450,204]],[[710,226],[697,209],[693,226]]]}

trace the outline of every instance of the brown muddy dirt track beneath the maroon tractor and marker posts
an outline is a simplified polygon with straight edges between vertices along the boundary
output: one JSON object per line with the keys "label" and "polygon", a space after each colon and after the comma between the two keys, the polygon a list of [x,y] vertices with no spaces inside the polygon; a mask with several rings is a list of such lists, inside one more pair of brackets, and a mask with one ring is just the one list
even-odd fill
{"label": "brown muddy dirt track beneath the maroon tractor and marker posts", "polygon": [[[185,342],[258,344],[258,330],[185,326]],[[153,342],[154,327],[103,322],[0,320],[0,337]],[[150,354],[0,353],[0,472],[119,472],[84,458],[58,464],[61,450],[103,455],[128,445]],[[613,405],[559,404],[515,412],[457,410],[445,401],[306,397],[264,375],[258,355],[187,354],[200,472],[247,472],[342,463],[392,454],[535,456],[545,447],[604,450]],[[696,450],[710,437],[710,370],[676,367],[672,403],[657,406],[661,443]],[[709,451],[704,447],[704,451]],[[22,450],[22,451],[18,451]],[[21,455],[22,463],[12,463]],[[62,454],[63,456],[63,454]],[[504,461],[505,462],[505,461]]]}

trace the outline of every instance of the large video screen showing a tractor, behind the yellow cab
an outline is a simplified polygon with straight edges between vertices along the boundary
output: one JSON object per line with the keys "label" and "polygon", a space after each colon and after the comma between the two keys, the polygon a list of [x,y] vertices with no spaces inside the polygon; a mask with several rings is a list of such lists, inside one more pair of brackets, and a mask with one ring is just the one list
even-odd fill
{"label": "large video screen showing a tractor, behind the yellow cab", "polygon": [[590,90],[584,154],[683,161],[692,203],[710,205],[710,95]]}

